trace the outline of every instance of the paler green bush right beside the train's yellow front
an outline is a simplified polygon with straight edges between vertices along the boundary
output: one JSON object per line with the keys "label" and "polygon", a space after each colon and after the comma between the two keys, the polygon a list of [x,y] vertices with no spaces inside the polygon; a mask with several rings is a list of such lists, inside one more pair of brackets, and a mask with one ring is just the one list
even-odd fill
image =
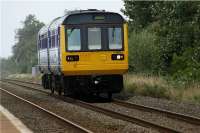
{"label": "paler green bush right beside the train's yellow front", "polygon": [[148,29],[132,32],[129,39],[129,65],[133,71],[153,73],[159,61],[157,36]]}

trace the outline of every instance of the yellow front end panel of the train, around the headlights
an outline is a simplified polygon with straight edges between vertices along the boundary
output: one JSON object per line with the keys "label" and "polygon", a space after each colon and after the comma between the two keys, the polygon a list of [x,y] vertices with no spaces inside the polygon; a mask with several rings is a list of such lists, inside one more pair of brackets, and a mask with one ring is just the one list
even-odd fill
{"label": "yellow front end panel of the train, around the headlights", "polygon": [[[65,29],[61,26],[60,57],[61,72],[64,75],[108,75],[123,74],[128,70],[128,35],[124,24],[124,51],[67,52]],[[124,54],[124,60],[112,60],[112,54]],[[78,55],[79,61],[68,62],[66,56]]]}

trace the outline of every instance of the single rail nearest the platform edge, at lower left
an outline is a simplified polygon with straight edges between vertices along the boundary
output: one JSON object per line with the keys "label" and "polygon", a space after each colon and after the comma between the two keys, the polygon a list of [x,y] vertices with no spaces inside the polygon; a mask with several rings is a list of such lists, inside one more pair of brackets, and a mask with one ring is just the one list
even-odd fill
{"label": "single rail nearest the platform edge, at lower left", "polygon": [[72,126],[75,129],[75,131],[83,132],[83,133],[93,133],[92,131],[90,131],[90,130],[84,128],[84,127],[81,127],[80,125],[75,124],[72,121],[67,120],[66,118],[63,118],[62,116],[59,116],[59,115],[57,115],[57,114],[55,114],[55,113],[53,113],[53,112],[51,112],[51,111],[39,106],[39,105],[37,105],[37,104],[35,104],[35,103],[33,103],[33,102],[29,101],[29,100],[26,100],[26,99],[24,99],[24,98],[22,98],[20,96],[15,95],[14,93],[11,93],[11,92],[9,92],[9,91],[7,91],[5,89],[2,89],[2,88],[0,88],[0,91],[4,92],[6,94],[9,94],[12,97],[17,98],[18,100],[21,100],[21,101],[23,101],[25,103],[28,103],[29,105],[34,106],[35,108],[47,113],[48,115],[51,115],[55,119],[60,120],[60,121],[62,121],[64,123],[66,123],[67,125]]}

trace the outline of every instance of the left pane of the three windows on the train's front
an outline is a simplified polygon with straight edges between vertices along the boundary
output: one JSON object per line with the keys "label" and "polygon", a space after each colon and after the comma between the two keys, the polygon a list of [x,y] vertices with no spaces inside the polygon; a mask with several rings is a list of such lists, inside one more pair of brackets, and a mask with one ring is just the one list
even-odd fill
{"label": "left pane of the three windows on the train's front", "polygon": [[80,29],[67,29],[67,48],[68,50],[81,50]]}

